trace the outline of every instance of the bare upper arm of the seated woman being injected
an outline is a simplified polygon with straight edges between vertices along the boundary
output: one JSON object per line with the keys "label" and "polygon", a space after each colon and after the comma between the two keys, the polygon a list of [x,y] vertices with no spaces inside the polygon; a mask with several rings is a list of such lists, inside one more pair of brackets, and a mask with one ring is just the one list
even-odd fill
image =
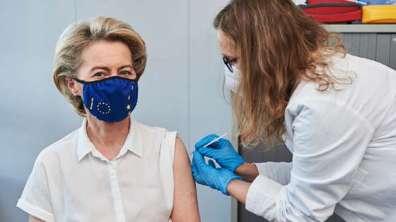
{"label": "bare upper arm of the seated woman being injected", "polygon": [[175,178],[175,200],[170,216],[172,221],[200,221],[197,190],[192,176],[190,158],[179,137],[176,137],[175,142],[173,175]]}

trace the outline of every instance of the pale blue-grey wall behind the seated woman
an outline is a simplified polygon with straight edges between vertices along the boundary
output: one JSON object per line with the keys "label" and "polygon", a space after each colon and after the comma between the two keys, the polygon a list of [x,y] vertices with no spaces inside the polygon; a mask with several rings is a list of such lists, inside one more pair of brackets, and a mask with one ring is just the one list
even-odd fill
{"label": "pale blue-grey wall behind the seated woman", "polygon": [[[67,25],[93,16],[129,23],[148,49],[137,121],[178,130],[189,152],[231,126],[224,66],[211,22],[227,0],[0,0],[0,221],[27,221],[16,202],[42,149],[79,128],[81,118],[52,81]],[[197,186],[202,221],[231,221],[231,198]]]}

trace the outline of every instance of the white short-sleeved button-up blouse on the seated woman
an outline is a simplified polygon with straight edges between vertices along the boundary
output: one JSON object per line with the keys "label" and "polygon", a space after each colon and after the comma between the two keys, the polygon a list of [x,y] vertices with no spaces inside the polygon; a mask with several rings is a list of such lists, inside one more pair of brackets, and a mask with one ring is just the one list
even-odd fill
{"label": "white short-sleeved button-up blouse on the seated woman", "polygon": [[42,221],[171,221],[178,132],[130,116],[127,140],[108,161],[80,129],[45,148],[17,206]]}

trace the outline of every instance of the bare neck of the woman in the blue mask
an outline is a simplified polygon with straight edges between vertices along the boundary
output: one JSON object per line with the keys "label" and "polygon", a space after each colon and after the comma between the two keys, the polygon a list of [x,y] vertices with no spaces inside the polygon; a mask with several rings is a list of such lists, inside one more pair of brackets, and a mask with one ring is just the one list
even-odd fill
{"label": "bare neck of the woman in the blue mask", "polygon": [[86,113],[88,121],[86,131],[89,140],[103,156],[111,161],[120,153],[125,140],[127,140],[129,117],[118,123],[106,123],[99,121],[89,111]]}

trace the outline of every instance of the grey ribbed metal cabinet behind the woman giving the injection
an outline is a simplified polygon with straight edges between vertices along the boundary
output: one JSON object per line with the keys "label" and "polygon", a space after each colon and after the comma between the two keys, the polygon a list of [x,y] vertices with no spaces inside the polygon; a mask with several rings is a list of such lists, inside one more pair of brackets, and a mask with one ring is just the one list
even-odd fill
{"label": "grey ribbed metal cabinet behind the woman giving the injection", "polygon": [[[385,66],[396,69],[396,25],[326,25],[325,27],[330,32],[342,32],[344,46],[349,54],[378,61]],[[248,163],[291,162],[293,158],[285,145],[276,147],[270,152],[264,152],[264,148],[262,144],[259,144],[252,149],[238,147],[238,150],[239,154]],[[247,211],[244,204],[238,202],[238,204],[234,204],[234,206],[236,205],[238,205],[238,219],[234,221],[267,221]],[[327,221],[342,222],[344,220],[337,214],[333,214]]]}

